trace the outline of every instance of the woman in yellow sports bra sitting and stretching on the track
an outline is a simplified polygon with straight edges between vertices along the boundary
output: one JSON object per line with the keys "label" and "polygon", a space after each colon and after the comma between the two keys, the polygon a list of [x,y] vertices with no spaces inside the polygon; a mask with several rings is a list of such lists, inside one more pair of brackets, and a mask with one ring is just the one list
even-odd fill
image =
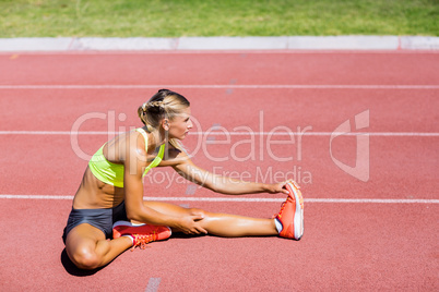
{"label": "woman in yellow sports bra sitting and stretching on the track", "polygon": [[[144,247],[151,241],[169,238],[171,232],[301,238],[304,200],[295,182],[264,184],[225,179],[191,161],[180,143],[192,127],[189,106],[183,96],[158,90],[138,110],[144,126],[116,136],[92,157],[63,232],[67,254],[76,267],[105,266],[127,248]],[[145,202],[142,178],[154,167],[171,167],[185,179],[222,194],[288,196],[274,219]]]}

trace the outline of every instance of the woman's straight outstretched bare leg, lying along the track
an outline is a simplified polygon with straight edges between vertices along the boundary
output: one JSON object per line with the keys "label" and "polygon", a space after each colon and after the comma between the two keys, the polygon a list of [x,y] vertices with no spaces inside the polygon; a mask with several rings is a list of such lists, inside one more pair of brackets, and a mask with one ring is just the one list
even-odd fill
{"label": "woman's straight outstretched bare leg, lying along the track", "polygon": [[[168,216],[183,217],[191,215],[203,215],[204,218],[199,222],[202,228],[207,230],[207,232],[213,235],[225,238],[278,235],[274,219],[260,219],[229,214],[215,214],[195,208],[188,209],[161,202],[144,202],[144,204],[146,207]],[[179,230],[173,231],[178,232]]]}

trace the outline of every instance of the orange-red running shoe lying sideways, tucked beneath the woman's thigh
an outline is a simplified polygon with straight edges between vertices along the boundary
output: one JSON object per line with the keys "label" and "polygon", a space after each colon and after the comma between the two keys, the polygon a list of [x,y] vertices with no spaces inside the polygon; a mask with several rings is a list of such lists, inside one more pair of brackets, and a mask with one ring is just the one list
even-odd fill
{"label": "orange-red running shoe lying sideways, tucked beneath the woman's thigh", "polygon": [[133,239],[133,245],[144,250],[146,244],[153,241],[163,241],[169,239],[170,228],[164,226],[135,224],[129,221],[117,221],[112,226],[112,238],[118,239],[123,235],[130,235]]}

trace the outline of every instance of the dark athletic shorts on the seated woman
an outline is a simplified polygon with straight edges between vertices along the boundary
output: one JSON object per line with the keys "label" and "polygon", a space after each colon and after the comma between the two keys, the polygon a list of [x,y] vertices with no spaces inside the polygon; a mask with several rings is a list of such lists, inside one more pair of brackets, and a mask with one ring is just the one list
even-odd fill
{"label": "dark athletic shorts on the seated woman", "polygon": [[128,220],[124,202],[109,209],[73,209],[69,215],[62,240],[66,244],[67,234],[79,224],[88,223],[102,230],[107,239],[112,238],[112,224],[119,220]]}

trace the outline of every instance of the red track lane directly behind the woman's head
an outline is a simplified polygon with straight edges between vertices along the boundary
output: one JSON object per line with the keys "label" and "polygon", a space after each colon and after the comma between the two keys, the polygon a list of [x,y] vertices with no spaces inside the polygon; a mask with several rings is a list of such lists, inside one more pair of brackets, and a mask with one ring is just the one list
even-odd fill
{"label": "red track lane directly behind the woman's head", "polygon": [[[176,89],[177,90],[177,89]],[[127,131],[140,126],[137,109],[156,89],[0,90],[0,131]],[[178,90],[180,92],[180,90]],[[270,132],[333,132],[369,110],[368,132],[439,132],[439,89],[182,89],[191,101],[192,132],[220,124]],[[280,106],[288,105],[288,106]],[[225,110],[227,109],[227,110]],[[29,122],[29,119],[32,122]],[[239,131],[239,129],[237,130]],[[244,131],[242,129],[240,130]]]}

